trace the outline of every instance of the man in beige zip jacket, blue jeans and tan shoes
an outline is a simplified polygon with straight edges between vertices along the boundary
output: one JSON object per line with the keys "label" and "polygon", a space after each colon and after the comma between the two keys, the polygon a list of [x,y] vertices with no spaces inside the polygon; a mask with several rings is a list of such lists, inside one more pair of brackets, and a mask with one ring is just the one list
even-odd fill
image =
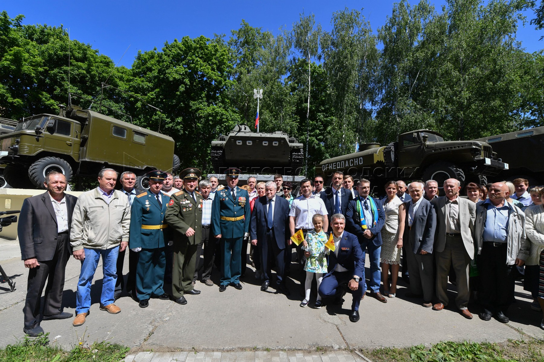
{"label": "man in beige zip jacket, blue jeans and tan shoes", "polygon": [[98,187],[79,196],[72,215],[70,244],[73,257],[81,261],[77,283],[74,326],[85,323],[91,307],[91,284],[102,256],[102,295],[100,309],[117,314],[114,302],[117,257],[128,245],[131,209],[127,195],[115,190],[117,172],[105,168],[98,173]]}

